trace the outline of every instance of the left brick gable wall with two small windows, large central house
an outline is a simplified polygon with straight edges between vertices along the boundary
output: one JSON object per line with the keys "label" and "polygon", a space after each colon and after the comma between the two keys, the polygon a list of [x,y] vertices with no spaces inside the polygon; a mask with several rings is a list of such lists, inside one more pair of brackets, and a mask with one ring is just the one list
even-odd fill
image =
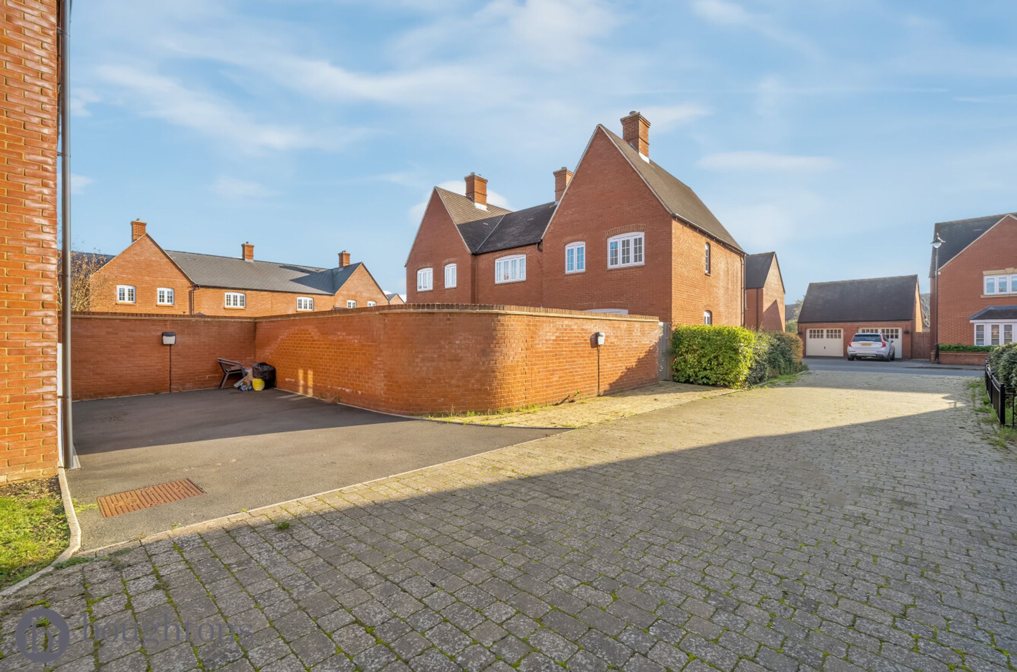
{"label": "left brick gable wall with two small windows, large central house", "polygon": [[[480,210],[478,210],[480,212]],[[444,286],[445,264],[455,263],[455,288]],[[406,300],[408,303],[475,303],[473,294],[474,257],[463,242],[448,210],[436,191],[431,191],[420,230],[406,263]],[[434,270],[433,288],[417,291],[417,271],[430,267]],[[491,278],[494,271],[491,271]]]}

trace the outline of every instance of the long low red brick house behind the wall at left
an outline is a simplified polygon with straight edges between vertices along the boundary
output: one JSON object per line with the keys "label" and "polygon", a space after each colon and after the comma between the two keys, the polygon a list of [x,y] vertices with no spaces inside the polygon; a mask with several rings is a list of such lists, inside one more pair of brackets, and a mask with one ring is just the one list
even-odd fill
{"label": "long low red brick house behind the wall at left", "polygon": [[92,276],[93,311],[177,315],[280,315],[386,305],[363,263],[339,254],[335,268],[164,250],[131,222],[131,244]]}

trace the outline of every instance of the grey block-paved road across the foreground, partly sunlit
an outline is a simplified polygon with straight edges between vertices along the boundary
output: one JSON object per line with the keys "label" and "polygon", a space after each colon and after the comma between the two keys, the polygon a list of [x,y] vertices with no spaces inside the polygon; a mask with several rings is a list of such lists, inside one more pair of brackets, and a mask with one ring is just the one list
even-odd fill
{"label": "grey block-paved road across the foreground, partly sunlit", "polygon": [[1017,460],[967,383],[813,373],[178,531],[5,601],[0,667],[45,601],[59,670],[1012,669]]}

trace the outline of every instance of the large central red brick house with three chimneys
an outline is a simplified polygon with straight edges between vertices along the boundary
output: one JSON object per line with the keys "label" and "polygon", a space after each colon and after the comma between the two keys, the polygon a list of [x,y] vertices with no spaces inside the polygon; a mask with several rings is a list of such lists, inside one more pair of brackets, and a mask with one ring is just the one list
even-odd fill
{"label": "large central red brick house with three chimneys", "polygon": [[744,252],[685,184],[649,158],[650,122],[602,125],[554,200],[510,211],[471,173],[435,187],[406,263],[409,303],[495,303],[744,323]]}

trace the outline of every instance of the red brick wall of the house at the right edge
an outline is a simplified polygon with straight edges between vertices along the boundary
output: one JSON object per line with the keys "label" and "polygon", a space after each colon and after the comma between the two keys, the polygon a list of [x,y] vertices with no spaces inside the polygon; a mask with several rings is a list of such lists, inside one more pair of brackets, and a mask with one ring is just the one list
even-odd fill
{"label": "red brick wall of the house at the right edge", "polygon": [[[970,317],[989,306],[1017,305],[1017,294],[984,296],[985,270],[1001,270],[1017,266],[1017,219],[1006,218],[971,243],[940,269],[939,299],[936,283],[930,302],[932,318],[939,329],[933,333],[940,343],[974,344],[974,326]],[[1017,272],[1017,271],[1015,271]],[[942,358],[941,358],[942,361]]]}

